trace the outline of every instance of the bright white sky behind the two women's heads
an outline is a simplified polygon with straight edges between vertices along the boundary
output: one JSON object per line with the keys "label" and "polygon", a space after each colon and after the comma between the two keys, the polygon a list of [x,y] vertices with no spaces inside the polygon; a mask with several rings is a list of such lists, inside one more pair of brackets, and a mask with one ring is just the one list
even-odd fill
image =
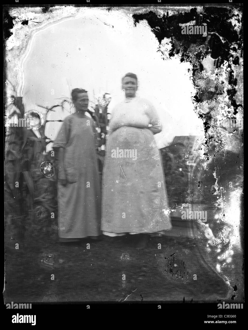
{"label": "bright white sky behind the two women's heads", "polygon": [[[195,90],[190,64],[180,63],[177,56],[164,61],[158,46],[147,22],[134,27],[131,14],[122,10],[86,8],[83,16],[53,23],[33,36],[27,50],[22,86],[25,109],[43,112],[37,104],[58,104],[58,99],[70,96],[70,89],[82,87],[91,100],[93,90],[95,96],[110,93],[111,112],[123,98],[121,77],[133,72],[139,79],[137,95],[149,99],[161,116],[163,132],[155,135],[160,147],[177,135],[203,135],[202,120],[191,101]],[[47,119],[68,115],[55,110]],[[47,136],[54,140],[60,126],[47,123]]]}

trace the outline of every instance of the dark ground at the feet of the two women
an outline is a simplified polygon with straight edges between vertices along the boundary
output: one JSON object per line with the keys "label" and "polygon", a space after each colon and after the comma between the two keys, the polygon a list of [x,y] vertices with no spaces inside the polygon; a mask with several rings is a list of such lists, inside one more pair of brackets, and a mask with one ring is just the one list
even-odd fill
{"label": "dark ground at the feet of the two women", "polygon": [[66,245],[56,243],[53,227],[6,242],[5,303],[210,302],[229,295],[230,286],[204,261],[196,239],[153,237],[140,251],[133,237]]}

